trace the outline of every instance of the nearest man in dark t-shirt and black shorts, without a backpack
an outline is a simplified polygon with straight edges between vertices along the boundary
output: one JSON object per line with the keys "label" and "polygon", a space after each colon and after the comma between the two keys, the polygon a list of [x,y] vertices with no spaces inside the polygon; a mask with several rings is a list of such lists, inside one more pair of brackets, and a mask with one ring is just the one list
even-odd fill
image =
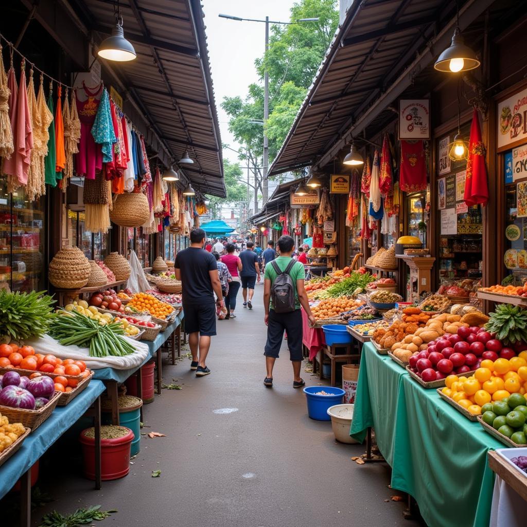
{"label": "nearest man in dark t-shirt and black shorts, without a backpack", "polygon": [[210,373],[206,360],[210,337],[216,335],[215,304],[223,307],[216,258],[203,249],[205,237],[203,229],[192,229],[190,247],[179,251],[174,261],[175,277],[181,280],[185,331],[192,353],[190,369],[196,370],[198,377]]}

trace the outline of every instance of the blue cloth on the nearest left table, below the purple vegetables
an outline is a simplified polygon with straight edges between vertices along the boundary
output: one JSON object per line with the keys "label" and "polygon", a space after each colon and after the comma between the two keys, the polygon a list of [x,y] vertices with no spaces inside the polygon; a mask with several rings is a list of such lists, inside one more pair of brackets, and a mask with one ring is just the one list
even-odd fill
{"label": "blue cloth on the nearest left table, below the purple vegetables", "polygon": [[100,380],[90,384],[66,406],[57,406],[34,432],[28,435],[20,450],[0,467],[0,499],[4,497],[44,452],[86,412],[105,390]]}

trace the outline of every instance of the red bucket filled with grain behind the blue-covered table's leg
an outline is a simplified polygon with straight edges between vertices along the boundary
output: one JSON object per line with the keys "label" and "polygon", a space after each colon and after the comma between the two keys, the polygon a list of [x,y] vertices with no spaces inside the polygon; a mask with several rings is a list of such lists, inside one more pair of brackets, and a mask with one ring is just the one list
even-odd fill
{"label": "red bucket filled with grain behind the blue-covered table's leg", "polygon": [[[123,426],[122,428],[126,428]],[[86,437],[86,428],[80,435],[82,444],[84,476],[89,480],[95,479],[95,439]],[[115,439],[101,440],[101,478],[103,481],[118,480],[130,472],[130,447],[134,438],[130,428],[128,434]]]}

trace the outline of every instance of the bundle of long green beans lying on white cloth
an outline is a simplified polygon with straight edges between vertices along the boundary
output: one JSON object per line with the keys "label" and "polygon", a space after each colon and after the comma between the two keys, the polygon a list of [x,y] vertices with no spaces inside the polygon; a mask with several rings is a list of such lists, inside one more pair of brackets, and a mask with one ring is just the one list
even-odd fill
{"label": "bundle of long green beans lying on white cloth", "polygon": [[48,333],[63,346],[90,348],[90,357],[123,357],[135,352],[123,337],[125,332],[121,323],[103,326],[77,311],[67,311],[66,315],[56,317]]}

